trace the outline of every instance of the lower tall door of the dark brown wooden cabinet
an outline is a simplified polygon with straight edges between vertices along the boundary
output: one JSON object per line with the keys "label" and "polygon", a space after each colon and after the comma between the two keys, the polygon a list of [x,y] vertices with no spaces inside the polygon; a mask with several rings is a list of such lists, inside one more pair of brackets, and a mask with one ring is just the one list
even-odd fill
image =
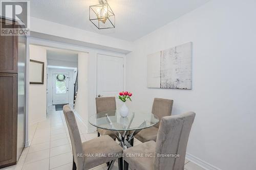
{"label": "lower tall door of the dark brown wooden cabinet", "polygon": [[17,74],[0,73],[0,168],[16,163]]}

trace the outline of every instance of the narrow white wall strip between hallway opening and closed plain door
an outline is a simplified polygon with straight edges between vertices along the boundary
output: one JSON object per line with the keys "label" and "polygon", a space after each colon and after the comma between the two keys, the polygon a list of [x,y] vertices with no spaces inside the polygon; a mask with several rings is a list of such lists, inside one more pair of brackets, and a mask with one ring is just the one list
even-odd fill
{"label": "narrow white wall strip between hallway opening and closed plain door", "polygon": [[78,53],[78,93],[75,103],[75,111],[88,128],[89,118],[89,55],[88,53]]}

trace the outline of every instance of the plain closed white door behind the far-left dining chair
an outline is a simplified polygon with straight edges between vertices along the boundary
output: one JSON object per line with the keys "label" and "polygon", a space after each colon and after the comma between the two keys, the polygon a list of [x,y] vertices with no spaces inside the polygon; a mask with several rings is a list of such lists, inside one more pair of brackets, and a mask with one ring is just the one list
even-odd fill
{"label": "plain closed white door behind the far-left dining chair", "polygon": [[123,90],[123,58],[97,55],[97,96],[117,96]]}

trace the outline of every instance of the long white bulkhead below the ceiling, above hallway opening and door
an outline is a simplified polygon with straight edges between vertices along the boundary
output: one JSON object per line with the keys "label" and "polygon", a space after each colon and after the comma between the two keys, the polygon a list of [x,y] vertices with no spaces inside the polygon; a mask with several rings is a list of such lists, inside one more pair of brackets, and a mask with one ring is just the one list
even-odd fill
{"label": "long white bulkhead below the ceiling, above hallway opening and door", "polygon": [[31,36],[36,38],[50,39],[59,42],[65,40],[70,44],[121,53],[129,53],[133,49],[133,42],[130,41],[61,25],[59,23],[35,17],[30,17],[30,20]]}

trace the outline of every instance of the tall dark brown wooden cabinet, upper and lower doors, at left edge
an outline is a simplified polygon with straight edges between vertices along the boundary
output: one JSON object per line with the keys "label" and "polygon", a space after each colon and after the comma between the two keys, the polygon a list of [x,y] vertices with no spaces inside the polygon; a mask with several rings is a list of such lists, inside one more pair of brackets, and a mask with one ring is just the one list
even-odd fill
{"label": "tall dark brown wooden cabinet, upper and lower doors, at left edge", "polygon": [[17,62],[18,37],[0,36],[0,168],[17,161]]}

